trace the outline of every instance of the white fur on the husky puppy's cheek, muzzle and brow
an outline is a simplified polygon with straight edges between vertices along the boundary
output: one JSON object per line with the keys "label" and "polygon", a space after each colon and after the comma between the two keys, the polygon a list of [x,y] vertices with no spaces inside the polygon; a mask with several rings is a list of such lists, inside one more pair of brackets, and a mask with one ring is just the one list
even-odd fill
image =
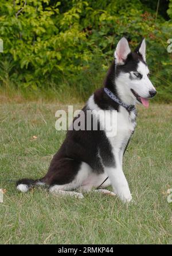
{"label": "white fur on the husky puppy's cheek, muzzle and brow", "polygon": [[130,73],[120,73],[115,81],[119,96],[128,104],[135,104],[135,102],[138,103],[135,96],[132,94],[131,89],[134,89],[140,97],[144,98],[150,97],[149,91],[155,91],[153,84],[147,76],[149,73],[147,65],[140,61],[138,63],[137,71],[142,75],[141,79],[135,77],[135,72],[131,71]]}

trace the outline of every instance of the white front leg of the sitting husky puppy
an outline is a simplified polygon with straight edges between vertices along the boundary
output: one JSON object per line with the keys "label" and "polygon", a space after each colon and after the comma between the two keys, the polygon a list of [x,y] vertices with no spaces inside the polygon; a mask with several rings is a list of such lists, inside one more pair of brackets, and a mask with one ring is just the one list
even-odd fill
{"label": "white front leg of the sitting husky puppy", "polygon": [[119,154],[116,154],[115,156],[115,166],[105,167],[105,172],[111,180],[114,193],[118,195],[123,202],[130,202],[132,196],[128,187],[128,182],[122,170]]}

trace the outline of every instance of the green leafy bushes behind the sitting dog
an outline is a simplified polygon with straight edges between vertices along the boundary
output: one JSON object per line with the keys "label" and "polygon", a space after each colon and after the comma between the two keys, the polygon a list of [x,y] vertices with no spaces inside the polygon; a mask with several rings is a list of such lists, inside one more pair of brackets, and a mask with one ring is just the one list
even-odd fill
{"label": "green leafy bushes behind the sitting dog", "polygon": [[[152,80],[161,99],[172,100],[171,20],[159,15],[155,21],[156,9],[143,2],[1,0],[2,84],[37,89],[45,84],[58,88],[65,81],[87,97],[92,85],[101,86],[120,37],[126,36],[134,48],[144,36]],[[171,10],[172,1],[170,18]]]}

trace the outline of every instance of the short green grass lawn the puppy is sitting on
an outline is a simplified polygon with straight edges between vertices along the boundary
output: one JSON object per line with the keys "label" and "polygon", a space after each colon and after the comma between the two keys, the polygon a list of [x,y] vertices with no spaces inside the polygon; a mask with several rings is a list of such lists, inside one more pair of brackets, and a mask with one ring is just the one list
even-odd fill
{"label": "short green grass lawn the puppy is sitting on", "polygon": [[[97,193],[84,199],[57,197],[38,188],[22,194],[13,182],[40,178],[60,147],[56,103],[0,104],[0,243],[172,243],[172,106],[139,108],[138,125],[124,157],[134,202]],[[75,105],[75,108],[80,108]],[[33,138],[36,136],[37,138]],[[111,189],[111,187],[110,187]]]}

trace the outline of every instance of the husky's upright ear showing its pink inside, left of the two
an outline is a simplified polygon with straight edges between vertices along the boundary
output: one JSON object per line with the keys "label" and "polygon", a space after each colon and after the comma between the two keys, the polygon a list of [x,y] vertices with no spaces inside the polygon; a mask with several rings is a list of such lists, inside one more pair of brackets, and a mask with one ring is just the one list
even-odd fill
{"label": "husky's upright ear showing its pink inside, left of the two", "polygon": [[119,40],[114,53],[115,62],[119,65],[123,65],[127,59],[128,54],[130,54],[130,52],[131,50],[128,45],[127,39],[125,37],[122,37],[122,39]]}

